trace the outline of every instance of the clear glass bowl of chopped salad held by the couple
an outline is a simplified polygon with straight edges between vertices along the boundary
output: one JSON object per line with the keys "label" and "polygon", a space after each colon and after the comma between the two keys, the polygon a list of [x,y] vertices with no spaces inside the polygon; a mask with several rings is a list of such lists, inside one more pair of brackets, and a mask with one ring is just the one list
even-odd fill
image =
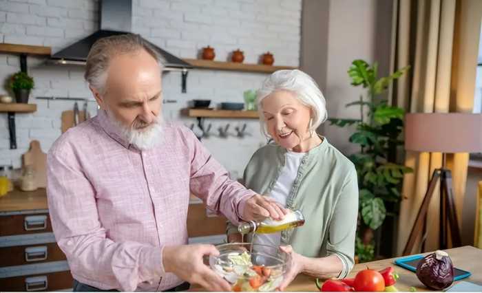
{"label": "clear glass bowl of chopped salad held by the couple", "polygon": [[233,285],[233,291],[274,291],[283,281],[290,255],[279,247],[252,243],[216,246],[209,266]]}

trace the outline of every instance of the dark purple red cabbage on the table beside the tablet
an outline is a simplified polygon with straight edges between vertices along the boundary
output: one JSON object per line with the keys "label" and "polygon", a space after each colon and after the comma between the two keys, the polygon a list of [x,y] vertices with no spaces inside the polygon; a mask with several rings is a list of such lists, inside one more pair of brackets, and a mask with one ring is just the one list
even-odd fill
{"label": "dark purple red cabbage on the table beside the tablet", "polygon": [[417,265],[417,277],[430,289],[443,290],[454,282],[454,266],[447,252],[437,250]]}

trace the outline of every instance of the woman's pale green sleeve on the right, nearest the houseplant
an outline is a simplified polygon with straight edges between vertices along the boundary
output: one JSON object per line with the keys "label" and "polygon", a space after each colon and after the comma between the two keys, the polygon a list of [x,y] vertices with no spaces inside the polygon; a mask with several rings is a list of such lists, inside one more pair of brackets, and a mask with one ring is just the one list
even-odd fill
{"label": "woman's pale green sleeve on the right, nearest the houseplant", "polygon": [[329,226],[327,254],[335,254],[343,263],[339,278],[350,273],[355,264],[355,233],[358,217],[358,182],[355,166],[348,172],[340,191]]}

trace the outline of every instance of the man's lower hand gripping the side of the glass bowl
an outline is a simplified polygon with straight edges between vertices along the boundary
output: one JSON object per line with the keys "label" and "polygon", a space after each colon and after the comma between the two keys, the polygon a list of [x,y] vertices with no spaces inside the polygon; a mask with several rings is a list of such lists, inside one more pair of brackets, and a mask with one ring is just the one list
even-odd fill
{"label": "man's lower hand gripping the side of the glass bowl", "polygon": [[209,244],[165,246],[164,269],[184,281],[201,285],[208,291],[231,291],[231,285],[202,262],[205,255],[217,256],[219,252]]}

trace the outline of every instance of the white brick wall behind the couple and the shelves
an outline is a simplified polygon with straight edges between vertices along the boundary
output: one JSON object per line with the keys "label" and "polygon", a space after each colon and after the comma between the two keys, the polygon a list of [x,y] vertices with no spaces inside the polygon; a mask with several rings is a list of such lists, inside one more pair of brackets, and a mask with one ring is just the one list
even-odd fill
{"label": "white brick wall behind the couple and the shelves", "polygon": [[[202,47],[216,50],[216,60],[226,61],[238,48],[244,51],[245,63],[258,63],[260,55],[273,52],[275,64],[299,65],[301,0],[133,0],[132,31],[182,58],[197,58]],[[0,41],[51,46],[53,52],[78,41],[98,29],[96,0],[0,0]],[[29,74],[36,83],[32,102],[37,111],[17,114],[17,144],[10,150],[6,115],[0,115],[0,165],[19,167],[21,154],[30,140],[41,142],[48,151],[61,134],[61,113],[72,109],[72,101],[36,100],[36,96],[91,98],[83,81],[83,67],[57,67],[43,64],[43,59],[28,58]],[[0,54],[0,78],[5,80],[19,70],[18,57]],[[167,120],[180,120],[187,126],[196,119],[180,116],[180,109],[195,98],[219,102],[242,102],[242,92],[259,87],[266,74],[191,70],[187,94],[180,92],[180,73],[163,75],[165,98],[176,104],[163,105]],[[4,89],[0,90],[0,94]],[[212,104],[211,104],[212,105]],[[79,105],[82,107],[83,105]],[[88,103],[90,113],[96,103]],[[242,175],[245,164],[266,141],[257,120],[206,120],[211,132],[227,123],[229,138],[211,136],[203,139],[215,158],[233,173]],[[247,123],[250,133],[235,136],[234,128]],[[235,160],[233,160],[235,158]]]}

